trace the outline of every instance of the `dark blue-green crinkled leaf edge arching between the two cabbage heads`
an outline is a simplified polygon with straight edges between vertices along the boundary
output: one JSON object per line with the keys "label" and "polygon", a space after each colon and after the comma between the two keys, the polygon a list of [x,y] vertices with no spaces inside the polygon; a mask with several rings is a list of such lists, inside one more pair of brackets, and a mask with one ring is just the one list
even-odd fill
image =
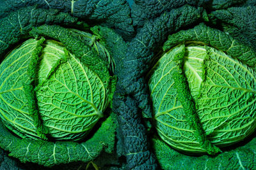
{"label": "dark blue-green crinkled leaf edge arching between the two cabbage heads", "polygon": [[[128,169],[157,168],[154,155],[149,152],[151,146],[147,142],[147,132],[141,122],[140,110],[138,110],[140,107],[145,113],[144,117],[152,117],[145,74],[154,57],[154,52],[170,32],[191,25],[201,17],[202,10],[183,6],[162,13],[156,20],[147,20],[147,23],[129,43],[125,56],[120,55],[116,62],[118,64],[116,64],[115,73],[118,76],[118,83],[113,97],[113,108],[119,117],[120,132],[123,136],[120,145],[127,157]],[[127,96],[133,96],[134,100]],[[133,145],[134,143],[136,145]]]}

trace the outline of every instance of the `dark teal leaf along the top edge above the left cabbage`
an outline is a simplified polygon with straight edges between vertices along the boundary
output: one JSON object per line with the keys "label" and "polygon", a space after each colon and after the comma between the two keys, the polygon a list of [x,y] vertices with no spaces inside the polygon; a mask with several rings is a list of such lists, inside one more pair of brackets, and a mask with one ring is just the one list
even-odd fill
{"label": "dark teal leaf along the top edge above the left cabbage", "polygon": [[[125,0],[100,1],[100,0],[35,0],[35,1],[0,1],[0,17],[6,17],[8,13],[17,11],[25,6],[37,6],[44,9],[57,9],[69,13],[73,17],[81,18],[86,22],[95,22],[108,27],[113,27],[125,38],[131,38],[134,34],[129,6]],[[33,14],[31,16],[36,16]]]}

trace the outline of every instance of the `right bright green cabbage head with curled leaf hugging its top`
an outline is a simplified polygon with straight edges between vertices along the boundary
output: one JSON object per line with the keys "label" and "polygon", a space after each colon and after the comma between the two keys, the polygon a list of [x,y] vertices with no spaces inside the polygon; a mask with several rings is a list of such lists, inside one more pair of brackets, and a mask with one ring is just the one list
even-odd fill
{"label": "right bright green cabbage head with curled leaf hugging its top", "polygon": [[148,80],[163,141],[214,155],[255,131],[255,54],[248,46],[201,24],[169,36],[164,51]]}

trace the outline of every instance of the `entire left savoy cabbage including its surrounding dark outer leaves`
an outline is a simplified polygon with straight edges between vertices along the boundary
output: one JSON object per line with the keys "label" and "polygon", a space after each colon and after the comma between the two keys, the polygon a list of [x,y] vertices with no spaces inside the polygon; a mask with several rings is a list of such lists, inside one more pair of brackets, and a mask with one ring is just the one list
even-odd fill
{"label": "entire left savoy cabbage including its surrounding dark outer leaves", "polygon": [[[76,1],[68,12],[67,2],[62,7],[45,2],[1,1],[0,146],[20,162],[44,167],[77,162],[75,167],[85,168],[98,157],[116,157],[111,101],[115,60],[126,50],[116,32],[127,27],[128,35],[133,29],[129,20],[119,26],[99,21],[120,17],[97,16],[97,10],[113,6],[109,1],[102,1],[104,6]],[[128,4],[118,4],[118,13],[127,17]],[[90,6],[87,14],[80,5]],[[90,25],[82,19],[88,15],[96,15],[86,20]]]}

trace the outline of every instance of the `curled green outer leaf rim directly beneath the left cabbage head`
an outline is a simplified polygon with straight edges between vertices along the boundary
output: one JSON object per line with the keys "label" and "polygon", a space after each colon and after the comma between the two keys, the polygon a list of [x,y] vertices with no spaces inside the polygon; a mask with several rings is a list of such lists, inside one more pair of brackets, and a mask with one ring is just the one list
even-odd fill
{"label": "curled green outer leaf rim directly beneath the left cabbage head", "polygon": [[10,156],[20,162],[33,162],[45,167],[69,162],[90,162],[99,157],[102,151],[113,152],[115,146],[115,116],[108,117],[92,138],[83,143],[49,142],[16,138],[0,124],[0,146],[10,152]]}

